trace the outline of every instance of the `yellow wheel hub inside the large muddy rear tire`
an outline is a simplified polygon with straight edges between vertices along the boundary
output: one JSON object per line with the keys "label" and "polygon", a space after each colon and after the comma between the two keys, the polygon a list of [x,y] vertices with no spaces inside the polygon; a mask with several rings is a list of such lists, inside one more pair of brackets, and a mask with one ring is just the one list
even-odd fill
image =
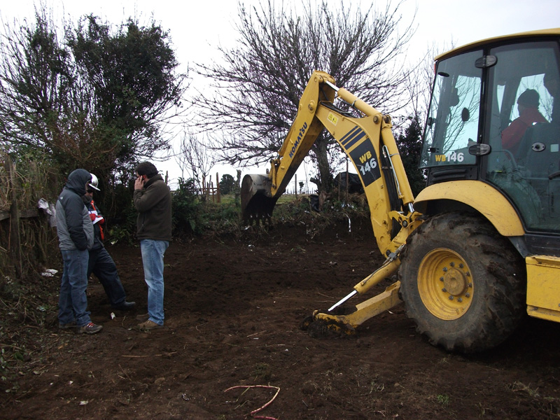
{"label": "yellow wheel hub inside the large muddy rear tire", "polygon": [[440,319],[463,316],[472,302],[473,286],[467,263],[451,249],[430,251],[418,269],[421,300],[426,309]]}

